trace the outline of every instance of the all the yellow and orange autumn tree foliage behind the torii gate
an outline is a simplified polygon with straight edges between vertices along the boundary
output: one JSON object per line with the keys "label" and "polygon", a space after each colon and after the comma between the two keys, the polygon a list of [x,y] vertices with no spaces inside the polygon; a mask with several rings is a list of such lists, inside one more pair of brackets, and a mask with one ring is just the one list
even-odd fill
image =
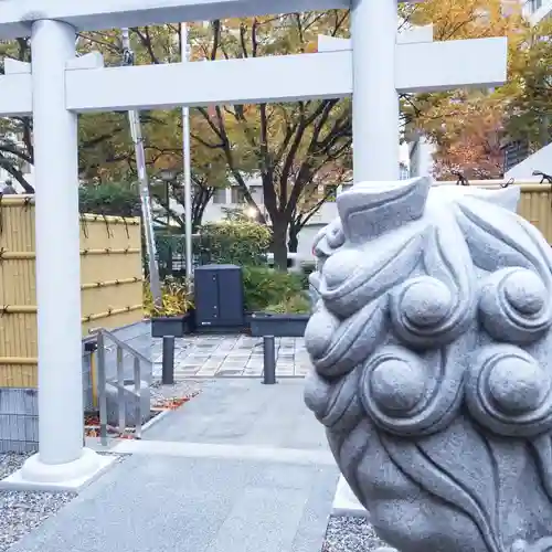
{"label": "all the yellow and orange autumn tree foliage behind the torii gate", "polygon": [[[401,98],[404,138],[423,134],[435,144],[437,178],[452,178],[456,170],[471,179],[497,178],[502,171],[500,145],[505,140],[528,140],[534,148],[550,141],[552,23],[530,28],[518,0],[426,0],[400,6],[400,26],[432,24],[435,41],[509,39],[509,82],[505,86]],[[308,54],[316,51],[320,34],[349,36],[349,13],[330,10],[191,24],[191,61]],[[137,64],[181,60],[178,24],[131,29],[130,35]],[[99,50],[107,65],[120,65],[117,30],[83,33],[78,47],[81,53]],[[28,61],[29,41],[0,43],[0,57],[3,55]],[[150,174],[155,177],[162,169],[180,171],[180,109],[142,113],[141,120]],[[297,243],[298,232],[321,203],[333,197],[336,185],[350,178],[348,98],[198,107],[191,109],[191,135],[194,226],[217,189],[237,185],[245,202],[272,224],[280,265],[286,261],[286,245]],[[126,114],[82,115],[79,139],[84,181],[120,181],[136,176]],[[29,187],[20,168],[32,162],[32,119],[0,119],[0,167]],[[263,205],[250,193],[251,177],[261,181]],[[171,193],[173,200],[182,202],[178,187]],[[184,225],[181,215],[167,211],[173,222]]]}

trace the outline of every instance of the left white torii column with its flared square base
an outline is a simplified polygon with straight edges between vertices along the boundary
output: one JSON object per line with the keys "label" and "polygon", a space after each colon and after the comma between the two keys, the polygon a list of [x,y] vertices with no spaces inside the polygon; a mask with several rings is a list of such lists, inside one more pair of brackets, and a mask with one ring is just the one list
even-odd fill
{"label": "left white torii column with its flared square base", "polygon": [[39,454],[10,479],[20,487],[77,489],[105,460],[83,447],[77,117],[65,109],[75,30],[36,21],[31,47],[40,443]]}

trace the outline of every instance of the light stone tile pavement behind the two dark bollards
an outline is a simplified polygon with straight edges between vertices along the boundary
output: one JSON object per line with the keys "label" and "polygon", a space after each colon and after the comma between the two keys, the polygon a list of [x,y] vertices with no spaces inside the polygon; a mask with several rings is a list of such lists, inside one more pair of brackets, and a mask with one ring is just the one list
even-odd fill
{"label": "light stone tile pavement behind the two dark bollards", "polygon": [[[162,340],[153,344],[153,376],[161,374]],[[276,375],[304,378],[310,361],[302,338],[276,338]],[[263,338],[189,336],[176,340],[174,378],[256,378],[263,375]]]}

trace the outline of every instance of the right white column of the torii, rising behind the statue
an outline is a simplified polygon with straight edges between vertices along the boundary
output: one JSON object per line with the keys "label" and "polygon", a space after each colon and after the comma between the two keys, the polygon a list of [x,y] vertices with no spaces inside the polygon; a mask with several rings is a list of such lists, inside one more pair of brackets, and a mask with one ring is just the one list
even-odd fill
{"label": "right white column of the torii, rising behind the statue", "polygon": [[396,0],[352,0],[354,183],[399,180]]}

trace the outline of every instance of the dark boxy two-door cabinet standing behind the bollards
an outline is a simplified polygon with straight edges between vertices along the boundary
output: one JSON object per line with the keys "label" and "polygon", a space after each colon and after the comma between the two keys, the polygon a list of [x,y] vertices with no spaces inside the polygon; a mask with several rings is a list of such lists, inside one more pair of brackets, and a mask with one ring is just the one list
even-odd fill
{"label": "dark boxy two-door cabinet standing behind the bollards", "polygon": [[240,266],[198,266],[193,280],[195,325],[199,331],[243,327],[244,297]]}

